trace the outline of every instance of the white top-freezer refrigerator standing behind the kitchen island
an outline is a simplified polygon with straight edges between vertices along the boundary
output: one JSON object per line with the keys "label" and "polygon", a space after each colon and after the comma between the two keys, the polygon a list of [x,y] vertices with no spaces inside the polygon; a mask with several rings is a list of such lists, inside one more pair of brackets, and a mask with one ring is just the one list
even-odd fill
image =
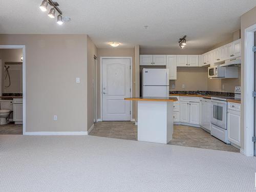
{"label": "white top-freezer refrigerator standing behind the kitchen island", "polygon": [[143,97],[169,96],[169,70],[143,69],[142,71]]}

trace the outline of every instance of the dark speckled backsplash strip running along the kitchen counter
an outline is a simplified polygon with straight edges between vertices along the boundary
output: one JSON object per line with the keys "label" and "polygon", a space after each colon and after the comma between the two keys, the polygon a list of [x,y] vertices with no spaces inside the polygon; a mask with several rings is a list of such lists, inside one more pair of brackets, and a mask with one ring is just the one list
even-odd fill
{"label": "dark speckled backsplash strip running along the kitchen counter", "polygon": [[200,95],[216,95],[234,97],[234,93],[217,92],[217,91],[170,91],[169,94],[200,94]]}

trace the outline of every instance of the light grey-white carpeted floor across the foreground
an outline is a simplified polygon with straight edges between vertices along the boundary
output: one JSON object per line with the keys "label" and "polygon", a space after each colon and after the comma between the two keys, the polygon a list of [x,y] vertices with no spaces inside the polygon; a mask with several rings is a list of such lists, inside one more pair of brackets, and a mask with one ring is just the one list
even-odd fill
{"label": "light grey-white carpeted floor across the foreground", "polygon": [[255,191],[256,158],[96,136],[0,136],[0,191]]}

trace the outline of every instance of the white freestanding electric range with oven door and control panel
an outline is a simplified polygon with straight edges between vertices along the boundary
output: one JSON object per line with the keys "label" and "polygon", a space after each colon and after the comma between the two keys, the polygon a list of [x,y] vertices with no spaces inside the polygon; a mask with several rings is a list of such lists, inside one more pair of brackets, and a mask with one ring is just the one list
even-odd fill
{"label": "white freestanding electric range with oven door and control panel", "polygon": [[227,140],[227,100],[241,99],[241,87],[234,88],[234,97],[211,97],[211,129],[210,134],[223,142]]}

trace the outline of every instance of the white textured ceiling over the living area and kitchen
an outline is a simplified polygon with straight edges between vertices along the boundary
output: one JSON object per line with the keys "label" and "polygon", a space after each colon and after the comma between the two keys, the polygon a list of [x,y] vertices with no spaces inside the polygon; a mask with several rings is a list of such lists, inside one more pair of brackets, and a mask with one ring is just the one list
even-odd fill
{"label": "white textured ceiling over the living area and kitchen", "polygon": [[[88,34],[98,48],[109,41],[120,48],[210,48],[240,29],[240,16],[255,0],[57,0],[71,22],[56,24],[41,12],[41,0],[0,0],[0,33]],[[143,26],[147,25],[148,29]]]}

